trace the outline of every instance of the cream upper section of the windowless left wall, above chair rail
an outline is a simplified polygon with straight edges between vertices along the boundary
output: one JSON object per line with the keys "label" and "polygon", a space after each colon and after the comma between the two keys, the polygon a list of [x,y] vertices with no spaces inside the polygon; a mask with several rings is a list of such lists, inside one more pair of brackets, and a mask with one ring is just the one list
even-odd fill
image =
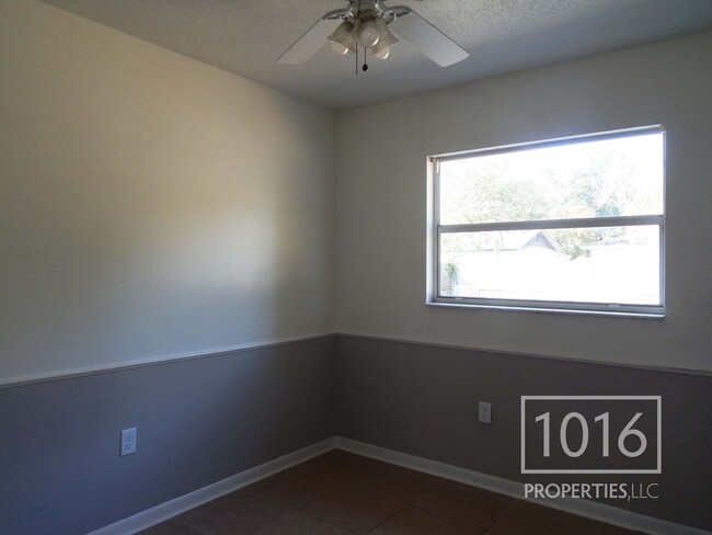
{"label": "cream upper section of the windowless left wall, above chair rail", "polygon": [[334,115],[0,3],[0,382],[329,332]]}

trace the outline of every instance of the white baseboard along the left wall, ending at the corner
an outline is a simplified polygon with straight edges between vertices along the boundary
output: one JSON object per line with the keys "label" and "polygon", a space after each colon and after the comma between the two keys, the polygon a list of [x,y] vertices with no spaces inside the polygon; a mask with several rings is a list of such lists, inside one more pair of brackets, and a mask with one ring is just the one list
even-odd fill
{"label": "white baseboard along the left wall, ending at the corner", "polygon": [[249,470],[241,471],[234,476],[222,479],[194,492],[175,498],[174,500],[161,503],[154,508],[141,511],[128,519],[120,520],[114,524],[96,530],[89,535],[130,535],[163,521],[172,519],[176,514],[184,513],[193,508],[203,505],[216,498],[246,487],[260,479],[272,476],[291,466],[309,460],[317,455],[334,448],[335,439],[326,439],[311,446],[303,447],[297,452],[289,453],[263,465],[255,466]]}

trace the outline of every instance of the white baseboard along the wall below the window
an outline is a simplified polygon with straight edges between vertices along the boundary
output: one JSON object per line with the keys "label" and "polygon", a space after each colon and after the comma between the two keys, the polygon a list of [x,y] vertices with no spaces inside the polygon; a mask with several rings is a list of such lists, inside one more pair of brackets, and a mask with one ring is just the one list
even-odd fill
{"label": "white baseboard along the wall below the window", "polygon": [[[335,447],[365,457],[430,474],[433,476],[452,479],[462,483],[492,490],[501,494],[524,499],[524,483],[518,481],[502,479],[479,471],[468,470],[466,468],[458,468],[457,466],[446,465],[445,463],[439,463],[437,460],[429,460],[423,457],[416,457],[414,455],[374,446],[364,442],[352,441],[341,436],[335,437]],[[643,514],[633,513],[631,511],[625,511],[624,509],[589,500],[560,499],[531,501],[567,513],[574,513],[579,516],[606,522],[629,530],[639,530],[653,535],[712,535],[712,532],[675,524],[673,522],[645,516]]]}

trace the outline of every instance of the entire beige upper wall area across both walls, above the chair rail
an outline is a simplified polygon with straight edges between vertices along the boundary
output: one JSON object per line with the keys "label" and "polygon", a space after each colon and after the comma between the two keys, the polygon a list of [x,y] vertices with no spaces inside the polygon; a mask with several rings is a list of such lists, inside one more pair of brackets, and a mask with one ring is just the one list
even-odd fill
{"label": "entire beige upper wall area across both walls, above the chair rail", "polygon": [[[329,332],[336,238],[337,331],[712,371],[710,58],[707,33],[340,113],[335,192],[331,112],[3,0],[0,383]],[[424,305],[427,155],[658,123],[665,320]]]}

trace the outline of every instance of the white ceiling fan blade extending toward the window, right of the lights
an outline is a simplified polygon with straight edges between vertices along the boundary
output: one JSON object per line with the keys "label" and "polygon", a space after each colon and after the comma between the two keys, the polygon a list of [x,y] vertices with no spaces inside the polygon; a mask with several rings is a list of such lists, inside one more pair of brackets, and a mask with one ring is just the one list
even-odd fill
{"label": "white ceiling fan blade extending toward the window, right of the lights", "polygon": [[440,67],[462,61],[470,55],[415,11],[399,15],[389,27]]}

